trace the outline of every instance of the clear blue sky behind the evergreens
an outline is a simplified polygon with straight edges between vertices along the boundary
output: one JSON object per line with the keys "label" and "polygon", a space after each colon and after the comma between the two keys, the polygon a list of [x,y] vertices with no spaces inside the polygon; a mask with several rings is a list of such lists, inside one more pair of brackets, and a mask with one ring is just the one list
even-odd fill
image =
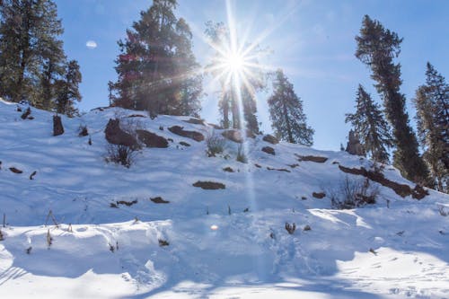
{"label": "clear blue sky behind the evergreens", "polygon": [[[116,81],[114,60],[117,41],[148,9],[149,0],[57,0],[58,16],[69,59],[78,60],[83,75],[80,91],[82,111],[108,106],[108,82]],[[425,81],[426,63],[449,77],[449,1],[446,0],[229,0],[236,34],[257,41],[270,54],[260,63],[282,68],[295,93],[304,102],[308,124],[315,130],[313,147],[339,150],[346,145],[349,125],[345,113],[353,112],[358,84],[363,84],[375,101],[369,69],[354,56],[355,36],[365,14],[395,31],[401,44],[403,84],[411,125],[415,110],[412,98]],[[187,20],[194,37],[194,53],[201,66],[207,65],[212,48],[205,41],[207,21],[227,23],[225,0],[179,0],[176,15]],[[201,117],[218,123],[218,90],[205,80]],[[268,83],[270,87],[270,83]],[[270,88],[257,95],[258,117],[264,133],[270,127],[267,99]]]}

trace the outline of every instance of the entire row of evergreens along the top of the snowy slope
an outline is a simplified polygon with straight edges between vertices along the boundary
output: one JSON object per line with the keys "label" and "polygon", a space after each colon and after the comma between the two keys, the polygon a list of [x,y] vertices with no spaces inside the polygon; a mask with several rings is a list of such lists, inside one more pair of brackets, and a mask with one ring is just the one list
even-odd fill
{"label": "entire row of evergreens along the top of the snowy slope", "polygon": [[[175,15],[176,7],[176,0],[154,0],[126,31],[126,38],[118,41],[118,79],[108,84],[111,106],[146,110],[151,117],[199,117],[205,71],[193,54],[189,24]],[[0,96],[74,116],[75,102],[81,101],[78,86],[82,76],[76,60],[68,60],[64,53],[56,4],[51,0],[4,0],[0,21]],[[223,23],[207,22],[205,34],[213,48],[229,40]],[[395,62],[401,41],[396,32],[365,15],[356,37],[355,56],[371,70],[383,105],[359,85],[356,110],[347,114],[346,122],[353,127],[362,154],[388,163],[392,153],[392,163],[404,177],[448,192],[449,87],[428,63],[426,83],[418,87],[413,100],[417,137],[401,93],[401,65]],[[256,93],[266,89],[270,79],[268,104],[275,134],[290,143],[313,145],[313,128],[307,125],[304,103],[281,69],[251,68],[251,77],[236,89],[218,75],[214,64],[211,61],[206,73],[216,77],[221,86],[218,108],[223,128],[260,133]],[[257,66],[258,61],[251,65]]]}

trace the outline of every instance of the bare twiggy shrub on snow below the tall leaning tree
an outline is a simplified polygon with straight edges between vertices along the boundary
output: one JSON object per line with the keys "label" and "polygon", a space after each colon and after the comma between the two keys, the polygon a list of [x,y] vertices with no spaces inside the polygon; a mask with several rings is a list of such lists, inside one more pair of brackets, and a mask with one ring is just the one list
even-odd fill
{"label": "bare twiggy shrub on snow below the tall leaning tree", "polygon": [[351,180],[346,176],[339,189],[330,191],[330,200],[333,208],[350,209],[375,204],[379,189],[373,188],[370,180]]}

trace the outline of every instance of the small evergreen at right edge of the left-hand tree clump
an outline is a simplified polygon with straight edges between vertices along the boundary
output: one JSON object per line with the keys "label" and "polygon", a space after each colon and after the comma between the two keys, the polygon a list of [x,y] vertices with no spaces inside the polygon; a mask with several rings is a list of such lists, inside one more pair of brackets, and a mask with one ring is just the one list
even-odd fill
{"label": "small evergreen at right edge of the left-hand tree clump", "polygon": [[66,114],[69,117],[78,114],[75,101],[81,101],[81,94],[78,90],[81,80],[80,66],[78,66],[76,60],[69,61],[66,64],[64,78],[58,80],[56,84],[57,98],[55,104],[57,113]]}

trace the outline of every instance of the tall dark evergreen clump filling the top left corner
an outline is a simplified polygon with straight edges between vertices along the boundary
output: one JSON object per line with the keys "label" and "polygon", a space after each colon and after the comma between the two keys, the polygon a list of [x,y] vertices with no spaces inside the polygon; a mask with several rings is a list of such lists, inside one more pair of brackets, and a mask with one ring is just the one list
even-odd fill
{"label": "tall dark evergreen clump filling the top left corner", "polygon": [[0,18],[0,96],[50,110],[54,84],[65,62],[56,4],[4,0]]}

